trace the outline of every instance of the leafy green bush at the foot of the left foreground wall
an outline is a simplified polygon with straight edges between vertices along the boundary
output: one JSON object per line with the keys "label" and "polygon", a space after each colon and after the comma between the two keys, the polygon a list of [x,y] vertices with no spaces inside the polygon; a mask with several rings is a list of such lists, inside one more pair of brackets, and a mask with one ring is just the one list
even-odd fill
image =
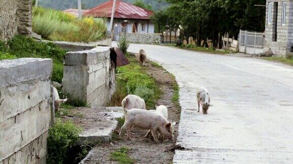
{"label": "leafy green bush at the foot of the left foreground wall", "polygon": [[78,141],[78,134],[81,132],[70,121],[55,121],[54,125],[49,129],[47,138],[47,163],[64,163],[68,158],[69,150]]}

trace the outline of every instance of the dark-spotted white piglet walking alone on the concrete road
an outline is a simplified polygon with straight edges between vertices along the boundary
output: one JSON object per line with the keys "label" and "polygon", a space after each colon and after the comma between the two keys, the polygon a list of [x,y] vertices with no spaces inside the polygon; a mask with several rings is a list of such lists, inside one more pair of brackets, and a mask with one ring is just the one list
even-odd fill
{"label": "dark-spotted white piglet walking alone on the concrete road", "polygon": [[198,110],[197,112],[199,112],[199,108],[201,105],[202,108],[202,113],[203,114],[208,114],[208,109],[211,105],[211,98],[210,98],[210,94],[209,91],[206,88],[201,87],[198,91],[197,91],[197,106],[198,106]]}

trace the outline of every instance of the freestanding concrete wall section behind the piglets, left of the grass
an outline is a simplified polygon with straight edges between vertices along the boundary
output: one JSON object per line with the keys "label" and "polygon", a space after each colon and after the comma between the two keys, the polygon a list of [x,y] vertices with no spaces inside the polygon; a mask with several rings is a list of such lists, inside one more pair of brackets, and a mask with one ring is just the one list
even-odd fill
{"label": "freestanding concrete wall section behind the piglets, left of the grass", "polygon": [[82,101],[91,106],[105,105],[115,91],[115,70],[109,47],[68,52],[66,54],[63,90],[68,101]]}

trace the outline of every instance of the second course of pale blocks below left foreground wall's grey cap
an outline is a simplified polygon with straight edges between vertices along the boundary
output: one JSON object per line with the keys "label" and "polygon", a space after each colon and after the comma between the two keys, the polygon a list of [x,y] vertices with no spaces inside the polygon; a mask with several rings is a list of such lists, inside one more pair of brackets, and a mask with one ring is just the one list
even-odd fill
{"label": "second course of pale blocks below left foreground wall's grey cap", "polygon": [[51,110],[48,104],[47,99],[0,123],[0,132],[5,132],[0,133],[0,158],[7,158],[49,129]]}

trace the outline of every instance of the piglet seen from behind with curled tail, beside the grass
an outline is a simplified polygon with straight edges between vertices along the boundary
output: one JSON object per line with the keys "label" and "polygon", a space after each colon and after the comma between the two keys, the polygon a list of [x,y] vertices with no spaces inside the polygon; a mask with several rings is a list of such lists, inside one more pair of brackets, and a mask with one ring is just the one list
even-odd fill
{"label": "piglet seen from behind with curled tail, beside the grass", "polygon": [[122,108],[126,109],[145,109],[145,103],[142,98],[136,95],[127,95],[121,102]]}

